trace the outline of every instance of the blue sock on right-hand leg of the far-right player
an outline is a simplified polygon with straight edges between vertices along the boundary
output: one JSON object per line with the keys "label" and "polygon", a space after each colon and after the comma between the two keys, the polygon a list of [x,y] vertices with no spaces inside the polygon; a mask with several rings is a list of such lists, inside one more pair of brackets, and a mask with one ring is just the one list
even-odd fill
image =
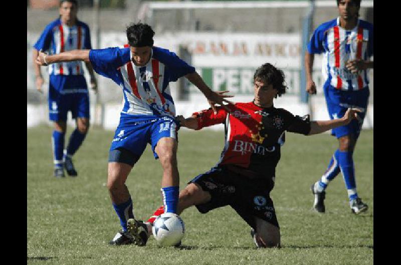
{"label": "blue sock on right-hand leg of the far-right player", "polygon": [[338,151],[338,163],[340,164],[349,200],[356,199],[358,194],[356,193],[355,169],[352,152]]}

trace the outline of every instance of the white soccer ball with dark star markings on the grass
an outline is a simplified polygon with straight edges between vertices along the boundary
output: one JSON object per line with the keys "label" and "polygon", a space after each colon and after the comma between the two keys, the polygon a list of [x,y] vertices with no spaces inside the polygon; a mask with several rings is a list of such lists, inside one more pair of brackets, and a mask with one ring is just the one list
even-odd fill
{"label": "white soccer ball with dark star markings on the grass", "polygon": [[184,222],[172,212],[159,215],[153,222],[152,233],[157,243],[165,246],[177,244],[184,236]]}

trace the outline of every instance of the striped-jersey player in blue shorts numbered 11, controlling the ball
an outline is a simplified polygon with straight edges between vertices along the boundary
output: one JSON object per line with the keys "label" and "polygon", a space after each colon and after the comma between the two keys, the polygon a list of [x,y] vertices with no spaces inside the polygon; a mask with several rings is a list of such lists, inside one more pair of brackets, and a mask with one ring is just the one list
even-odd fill
{"label": "striped-jersey player in blue shorts numbered 11, controlling the ball", "polygon": [[159,158],[163,168],[164,207],[166,212],[176,212],[178,126],[168,83],[185,76],[205,94],[215,110],[215,103],[230,110],[223,104],[223,101],[230,101],[225,99],[227,96],[212,91],[195,68],[174,52],[153,46],[154,31],[148,24],[131,24],[126,28],[126,34],[128,44],[121,47],[72,50],[57,55],[41,52],[36,61],[40,65],[74,60],[91,62],[97,73],[111,78],[122,88],[120,123],[110,147],[107,176],[107,187],[122,230],[110,244],[144,245],[146,225],[134,219],[132,199],[125,181],[146,144],[151,144],[154,157]]}

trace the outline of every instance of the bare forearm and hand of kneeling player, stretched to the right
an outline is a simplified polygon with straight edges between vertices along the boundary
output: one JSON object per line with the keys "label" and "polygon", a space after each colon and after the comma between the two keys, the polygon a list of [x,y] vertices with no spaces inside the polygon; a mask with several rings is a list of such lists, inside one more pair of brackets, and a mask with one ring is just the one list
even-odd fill
{"label": "bare forearm and hand of kneeling player, stretched to the right", "polygon": [[348,108],[342,118],[331,120],[314,120],[310,122],[310,131],[308,135],[318,134],[326,130],[343,126],[351,122],[352,119],[360,119],[357,112],[362,112],[359,108]]}

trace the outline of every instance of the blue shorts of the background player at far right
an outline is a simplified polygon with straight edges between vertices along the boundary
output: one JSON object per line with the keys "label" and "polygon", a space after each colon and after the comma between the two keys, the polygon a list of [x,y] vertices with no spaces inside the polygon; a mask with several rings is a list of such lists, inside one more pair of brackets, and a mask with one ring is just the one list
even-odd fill
{"label": "blue shorts of the background player at far right", "polygon": [[331,130],[331,134],[337,138],[352,134],[355,139],[357,139],[362,128],[363,119],[366,115],[369,88],[365,87],[356,91],[344,91],[335,89],[330,85],[324,85],[323,91],[330,119],[344,116],[348,107],[360,107],[363,109],[363,112],[358,112],[358,116],[361,119],[360,121],[353,119],[347,125],[339,126]]}

